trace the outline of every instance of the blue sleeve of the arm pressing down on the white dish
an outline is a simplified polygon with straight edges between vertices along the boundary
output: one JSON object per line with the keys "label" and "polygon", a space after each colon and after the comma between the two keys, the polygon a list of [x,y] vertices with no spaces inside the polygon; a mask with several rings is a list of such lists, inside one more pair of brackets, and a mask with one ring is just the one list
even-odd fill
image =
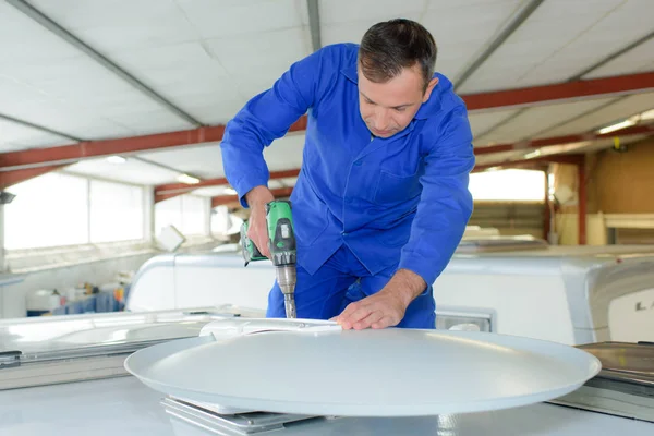
{"label": "blue sleeve of the arm pressing down on the white dish", "polygon": [[423,192],[400,257],[400,268],[417,274],[429,286],[455,254],[472,215],[468,183],[474,162],[468,116],[463,108],[457,109],[425,157]]}

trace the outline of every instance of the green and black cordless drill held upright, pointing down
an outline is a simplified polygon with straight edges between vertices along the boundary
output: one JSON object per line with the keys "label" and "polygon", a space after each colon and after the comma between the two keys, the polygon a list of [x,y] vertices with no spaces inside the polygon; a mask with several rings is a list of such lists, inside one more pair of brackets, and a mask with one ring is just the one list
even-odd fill
{"label": "green and black cordless drill held upright, pointing down", "polygon": [[[268,229],[268,249],[277,283],[283,293],[283,303],[287,318],[295,318],[295,232],[293,230],[293,217],[291,214],[291,202],[272,201],[266,204],[266,222]],[[250,262],[267,259],[256,247],[254,242],[247,238],[249,222],[241,227],[241,245],[245,266]]]}

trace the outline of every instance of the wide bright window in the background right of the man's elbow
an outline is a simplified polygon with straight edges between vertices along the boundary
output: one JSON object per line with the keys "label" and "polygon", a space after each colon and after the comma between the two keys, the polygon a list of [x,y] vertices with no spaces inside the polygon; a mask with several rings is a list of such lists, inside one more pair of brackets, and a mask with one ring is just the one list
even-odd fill
{"label": "wide bright window in the background right of the man's elbow", "polygon": [[545,174],[534,170],[499,170],[470,174],[475,201],[529,202],[545,199]]}

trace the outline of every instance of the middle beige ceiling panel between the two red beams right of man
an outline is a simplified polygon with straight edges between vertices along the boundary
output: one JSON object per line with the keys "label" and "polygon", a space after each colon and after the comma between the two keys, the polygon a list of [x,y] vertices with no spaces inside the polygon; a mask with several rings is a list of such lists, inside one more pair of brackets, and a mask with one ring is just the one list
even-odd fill
{"label": "middle beige ceiling panel between the two red beams right of man", "polygon": [[509,122],[480,137],[482,143],[514,143],[530,138],[538,132],[559,125],[571,118],[590,112],[610,101],[610,98],[580,100],[558,105],[546,105],[529,108]]}

